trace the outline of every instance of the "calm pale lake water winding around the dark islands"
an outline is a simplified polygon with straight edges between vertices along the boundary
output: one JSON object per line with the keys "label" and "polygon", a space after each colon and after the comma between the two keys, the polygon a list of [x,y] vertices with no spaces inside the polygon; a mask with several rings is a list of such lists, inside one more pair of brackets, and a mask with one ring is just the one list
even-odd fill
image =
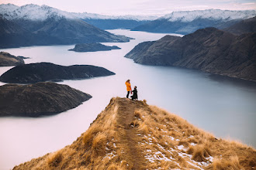
{"label": "calm pale lake water winding around the dark islands", "polygon": [[[16,56],[26,56],[26,63],[50,62],[65,66],[90,64],[103,66],[115,76],[89,80],[64,80],[92,99],[64,113],[50,117],[0,118],[0,169],[13,168],[32,158],[43,156],[70,145],[88,129],[112,97],[125,97],[125,81],[137,86],[139,100],[178,114],[191,124],[218,138],[229,138],[256,146],[256,84],[196,70],[168,66],[143,66],[126,59],[139,42],[157,40],[164,34],[109,30],[135,39],[105,52],[75,53],[74,46],[33,46],[2,49]],[[0,67],[0,75],[12,67]],[[4,83],[0,83],[2,85]],[[15,106],[14,106],[15,107]]]}

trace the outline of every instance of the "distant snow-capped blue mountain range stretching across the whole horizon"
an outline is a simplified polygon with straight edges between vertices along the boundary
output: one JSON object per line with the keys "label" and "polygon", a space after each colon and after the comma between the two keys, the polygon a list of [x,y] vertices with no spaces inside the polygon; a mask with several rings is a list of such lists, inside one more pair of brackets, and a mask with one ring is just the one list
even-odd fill
{"label": "distant snow-capped blue mountain range stretching across the whole horizon", "polygon": [[[49,18],[81,19],[99,29],[131,29],[146,32],[171,32],[189,34],[197,29],[216,27],[226,29],[244,19],[253,18],[255,10],[230,11],[220,9],[206,9],[195,11],[179,11],[158,17],[156,15],[99,15],[95,13],[64,12],[47,5],[12,4],[0,5],[0,15],[9,21],[18,22],[29,30],[36,31],[42,27],[43,21]],[[32,27],[24,21],[34,21]],[[35,25],[37,27],[35,27]],[[52,26],[50,26],[53,29]]]}

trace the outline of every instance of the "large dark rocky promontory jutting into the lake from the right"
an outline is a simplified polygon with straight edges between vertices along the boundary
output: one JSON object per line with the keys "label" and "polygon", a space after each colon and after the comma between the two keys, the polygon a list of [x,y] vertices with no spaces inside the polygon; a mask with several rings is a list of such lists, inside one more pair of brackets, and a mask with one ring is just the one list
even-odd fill
{"label": "large dark rocky promontory jutting into the lake from the right", "polygon": [[182,38],[165,36],[156,42],[144,42],[126,57],[140,64],[181,66],[256,80],[255,43],[256,33],[234,36],[219,29],[206,28]]}

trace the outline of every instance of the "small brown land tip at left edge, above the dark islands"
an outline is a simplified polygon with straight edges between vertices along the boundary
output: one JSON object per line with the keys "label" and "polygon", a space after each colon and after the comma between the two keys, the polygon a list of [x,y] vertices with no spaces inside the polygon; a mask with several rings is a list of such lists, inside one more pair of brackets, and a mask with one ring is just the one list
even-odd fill
{"label": "small brown land tip at left edge, above the dark islands", "polygon": [[0,66],[19,66],[22,64],[24,64],[24,61],[21,57],[0,52]]}

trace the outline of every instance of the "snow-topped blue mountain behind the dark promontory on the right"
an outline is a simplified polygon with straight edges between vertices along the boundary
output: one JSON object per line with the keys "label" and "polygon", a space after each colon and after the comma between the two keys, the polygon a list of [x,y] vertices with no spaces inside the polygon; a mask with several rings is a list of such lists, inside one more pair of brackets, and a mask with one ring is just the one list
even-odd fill
{"label": "snow-topped blue mountain behind the dark promontory on the right", "polygon": [[254,17],[256,11],[228,11],[207,9],[172,12],[152,22],[133,28],[134,31],[171,32],[189,34],[206,27],[226,28],[242,19]]}

